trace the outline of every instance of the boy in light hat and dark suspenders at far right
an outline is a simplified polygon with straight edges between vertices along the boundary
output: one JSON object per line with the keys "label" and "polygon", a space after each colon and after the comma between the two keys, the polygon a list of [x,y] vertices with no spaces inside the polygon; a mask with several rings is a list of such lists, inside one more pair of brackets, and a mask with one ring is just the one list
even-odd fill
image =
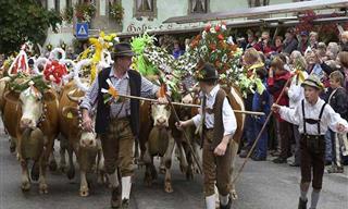
{"label": "boy in light hat and dark suspenders at far right", "polygon": [[307,209],[307,193],[312,180],[313,192],[310,209],[315,209],[325,167],[324,135],[327,127],[338,133],[348,132],[348,123],[319,97],[324,86],[318,76],[310,75],[301,86],[304,88],[304,99],[295,109],[273,104],[272,110],[278,112],[282,119],[299,125],[301,134],[301,196],[298,208]]}

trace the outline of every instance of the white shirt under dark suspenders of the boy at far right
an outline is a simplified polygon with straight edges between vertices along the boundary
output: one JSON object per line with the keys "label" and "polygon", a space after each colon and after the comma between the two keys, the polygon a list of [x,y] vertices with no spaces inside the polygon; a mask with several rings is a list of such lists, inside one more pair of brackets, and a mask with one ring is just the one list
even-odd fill
{"label": "white shirt under dark suspenders of the boy at far right", "polygon": [[[320,111],[325,103],[324,100],[318,99],[315,104],[310,104],[307,100],[304,100],[304,114],[306,119],[319,119]],[[302,114],[302,102],[299,102],[295,109],[290,109],[287,107],[282,107],[279,109],[279,114],[282,119],[293,123],[295,125],[299,125],[299,132],[301,134],[304,133],[303,131],[303,114]],[[334,109],[326,104],[322,120],[320,122],[320,135],[325,135],[327,131],[327,126],[333,130],[334,132],[338,132],[336,125],[343,124],[346,130],[348,130],[348,123],[346,120],[341,119],[338,113],[334,111]],[[318,125],[316,124],[309,124],[306,123],[307,134],[310,135],[318,135]]]}

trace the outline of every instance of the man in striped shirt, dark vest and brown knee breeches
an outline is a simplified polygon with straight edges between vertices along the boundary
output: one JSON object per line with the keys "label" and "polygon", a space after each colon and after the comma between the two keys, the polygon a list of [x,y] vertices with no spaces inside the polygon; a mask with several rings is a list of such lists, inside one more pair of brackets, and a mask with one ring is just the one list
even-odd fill
{"label": "man in striped shirt, dark vest and brown knee breeches", "polygon": [[[101,89],[109,89],[107,79],[110,79],[122,95],[157,98],[160,95],[158,86],[129,69],[133,56],[129,44],[115,45],[113,66],[99,73],[80,104],[83,126],[91,132],[94,123],[90,110],[97,104],[95,131],[101,138],[105,172],[112,185],[112,208],[127,208],[129,204],[130,177],[134,173],[133,145],[139,132],[139,100],[119,98],[104,103]],[[165,99],[159,101],[165,102]],[[122,176],[121,185],[117,175]]]}

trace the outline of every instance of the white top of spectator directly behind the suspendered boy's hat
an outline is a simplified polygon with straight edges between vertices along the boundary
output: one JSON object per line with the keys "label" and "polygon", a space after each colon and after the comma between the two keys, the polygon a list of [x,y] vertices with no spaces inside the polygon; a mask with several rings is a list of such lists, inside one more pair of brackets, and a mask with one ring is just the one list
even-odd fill
{"label": "white top of spectator directly behind the suspendered boy's hat", "polygon": [[[307,72],[302,72],[303,75],[304,75],[304,79],[308,77],[308,73]],[[295,109],[296,106],[302,100],[304,99],[304,90],[303,88],[301,87],[301,84],[302,82],[299,81],[298,78],[298,75],[297,76],[294,76],[293,77],[293,81],[291,81],[291,84],[290,84],[290,87],[287,91],[287,95],[289,97],[289,107]],[[298,81],[297,81],[298,79]],[[297,83],[297,84],[296,84]]]}

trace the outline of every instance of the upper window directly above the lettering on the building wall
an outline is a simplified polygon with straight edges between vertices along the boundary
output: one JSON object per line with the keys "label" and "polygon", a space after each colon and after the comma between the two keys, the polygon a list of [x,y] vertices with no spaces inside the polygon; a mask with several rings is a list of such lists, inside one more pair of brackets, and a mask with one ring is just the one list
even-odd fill
{"label": "upper window directly above the lettering on the building wall", "polygon": [[134,16],[157,17],[157,0],[134,0]]}

